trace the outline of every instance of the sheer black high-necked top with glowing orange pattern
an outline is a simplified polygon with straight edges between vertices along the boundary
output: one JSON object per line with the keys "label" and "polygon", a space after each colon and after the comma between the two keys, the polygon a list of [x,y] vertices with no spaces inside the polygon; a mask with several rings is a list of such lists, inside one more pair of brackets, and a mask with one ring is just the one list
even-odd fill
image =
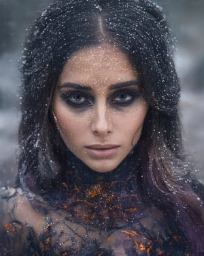
{"label": "sheer black high-necked top with glowing orange pattern", "polygon": [[109,173],[72,156],[60,186],[53,202],[1,188],[0,255],[191,255],[175,217],[141,199],[131,154]]}

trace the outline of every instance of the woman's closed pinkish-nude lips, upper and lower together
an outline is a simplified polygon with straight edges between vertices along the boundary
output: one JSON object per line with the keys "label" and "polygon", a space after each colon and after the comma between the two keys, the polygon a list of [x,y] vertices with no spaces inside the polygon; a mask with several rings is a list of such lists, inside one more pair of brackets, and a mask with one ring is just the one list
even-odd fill
{"label": "woman's closed pinkish-nude lips, upper and lower together", "polygon": [[92,144],[86,146],[86,152],[97,159],[109,158],[118,152],[119,147],[114,144]]}

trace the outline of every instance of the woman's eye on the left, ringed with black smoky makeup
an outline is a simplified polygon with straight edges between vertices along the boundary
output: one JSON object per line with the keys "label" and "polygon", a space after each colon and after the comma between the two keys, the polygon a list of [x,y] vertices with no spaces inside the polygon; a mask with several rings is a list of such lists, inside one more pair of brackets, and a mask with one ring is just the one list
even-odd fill
{"label": "woman's eye on the left, ringed with black smoky makeup", "polygon": [[61,100],[65,102],[67,105],[82,108],[87,106],[92,106],[93,99],[91,96],[84,94],[81,91],[69,91],[63,92],[60,94]]}

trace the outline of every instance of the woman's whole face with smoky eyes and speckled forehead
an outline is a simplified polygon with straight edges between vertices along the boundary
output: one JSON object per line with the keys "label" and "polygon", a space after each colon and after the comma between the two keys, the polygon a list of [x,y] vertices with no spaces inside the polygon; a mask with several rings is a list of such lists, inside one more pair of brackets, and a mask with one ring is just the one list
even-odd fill
{"label": "woman's whole face with smoky eyes and speckled forehead", "polygon": [[109,44],[83,48],[63,68],[53,113],[63,141],[98,172],[112,171],[139,140],[148,104],[128,57]]}

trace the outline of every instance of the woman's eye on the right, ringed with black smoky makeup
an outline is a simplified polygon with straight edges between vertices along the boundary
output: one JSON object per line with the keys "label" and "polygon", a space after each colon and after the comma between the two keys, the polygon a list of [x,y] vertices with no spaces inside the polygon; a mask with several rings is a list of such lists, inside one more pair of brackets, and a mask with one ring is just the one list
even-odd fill
{"label": "woman's eye on the right, ringed with black smoky makeup", "polygon": [[116,91],[109,99],[109,104],[114,106],[129,106],[137,98],[139,98],[140,92],[138,89],[122,89]]}

